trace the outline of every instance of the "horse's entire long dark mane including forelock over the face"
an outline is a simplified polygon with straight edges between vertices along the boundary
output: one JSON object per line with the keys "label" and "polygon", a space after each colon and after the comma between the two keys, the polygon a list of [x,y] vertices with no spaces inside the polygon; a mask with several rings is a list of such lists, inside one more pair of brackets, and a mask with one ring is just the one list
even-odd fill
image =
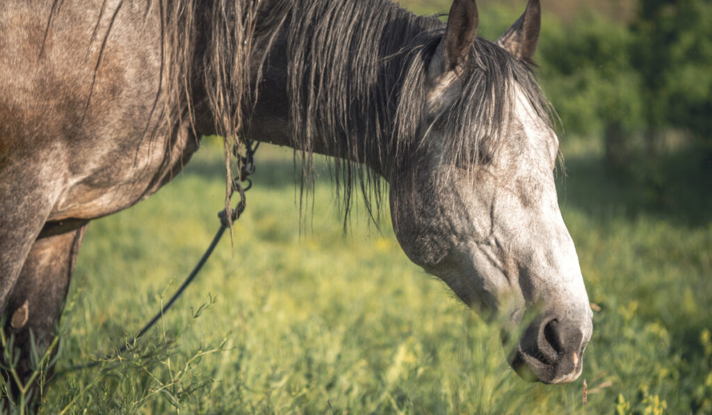
{"label": "horse's entire long dark mane including forelock over the face", "polygon": [[[341,157],[333,157],[331,172],[345,220],[354,189],[363,194],[368,213],[378,214],[379,172],[417,162],[417,150],[431,145],[427,133],[419,137],[419,128],[426,116],[426,70],[444,33],[436,16],[416,16],[389,0],[214,0],[209,6],[160,1],[169,101],[181,103],[179,116],[192,120],[193,83],[203,83],[215,130],[225,140],[228,182],[236,167],[231,147],[239,145],[258,98],[250,85],[259,79],[249,77],[261,76],[278,32],[287,42],[290,125],[301,151],[302,195],[313,186],[313,152],[320,147]],[[192,61],[201,41],[207,46],[202,77]],[[262,48],[256,48],[259,42]],[[473,169],[501,147],[515,87],[545,122],[552,110],[530,63],[482,38],[470,53],[458,73],[460,94],[430,125],[445,140],[439,143],[442,162]],[[250,68],[255,62],[256,72]]]}

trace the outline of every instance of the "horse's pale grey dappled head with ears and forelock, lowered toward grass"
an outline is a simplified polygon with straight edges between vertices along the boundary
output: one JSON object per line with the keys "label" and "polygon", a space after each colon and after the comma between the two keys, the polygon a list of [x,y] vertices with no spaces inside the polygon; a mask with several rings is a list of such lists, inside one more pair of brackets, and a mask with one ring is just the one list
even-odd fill
{"label": "horse's pale grey dappled head with ears and forelock, lowered toward grass", "polygon": [[557,384],[582,372],[592,312],[557,202],[558,139],[531,70],[540,5],[497,43],[476,37],[474,0],[455,0],[426,60],[417,145],[389,173],[409,258],[518,337],[511,366]]}

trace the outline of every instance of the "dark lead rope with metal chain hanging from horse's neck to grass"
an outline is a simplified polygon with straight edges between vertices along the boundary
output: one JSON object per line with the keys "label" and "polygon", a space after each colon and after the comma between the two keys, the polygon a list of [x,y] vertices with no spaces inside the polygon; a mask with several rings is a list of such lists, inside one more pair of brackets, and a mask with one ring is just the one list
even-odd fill
{"label": "dark lead rope with metal chain hanging from horse's neck to grass", "polygon": [[[161,310],[156,313],[156,315],[153,316],[153,318],[146,323],[146,325],[143,326],[143,328],[138,332],[137,335],[132,337],[132,339],[128,342],[125,342],[124,345],[119,347],[117,352],[113,354],[107,354],[105,357],[102,359],[96,360],[95,362],[89,362],[85,364],[78,364],[76,366],[70,367],[68,369],[64,369],[60,372],[56,372],[54,377],[61,377],[64,374],[68,374],[70,372],[76,372],[78,370],[83,370],[83,369],[89,369],[91,367],[96,367],[99,364],[102,364],[108,359],[111,359],[112,357],[117,357],[118,355],[122,354],[126,350],[128,350],[129,345],[133,346],[136,344],[137,340],[144,335],[148,330],[150,330],[153,325],[158,322],[158,320],[161,320],[163,315],[171,308],[173,303],[181,296],[183,291],[190,285],[190,283],[193,282],[195,277],[198,275],[200,272],[201,268],[203,268],[204,264],[206,261],[208,261],[208,258],[210,258],[211,253],[213,253],[215,247],[217,246],[218,242],[220,241],[220,238],[222,238],[223,233],[225,233],[226,229],[231,226],[235,221],[240,219],[240,216],[242,212],[245,211],[245,192],[251,189],[252,187],[252,181],[249,178],[250,174],[253,174],[255,172],[255,159],[254,155],[255,152],[257,151],[257,147],[260,146],[260,142],[255,142],[253,140],[246,140],[244,142],[245,145],[245,155],[242,156],[239,154],[239,148],[236,145],[233,149],[233,154],[239,158],[240,160],[240,174],[237,177],[234,177],[234,179],[231,180],[230,184],[230,194],[228,196],[228,199],[232,199],[232,195],[235,194],[236,192],[240,195],[240,200],[237,202],[235,209],[231,209],[230,213],[230,219],[228,219],[228,208],[225,208],[221,211],[218,212],[218,217],[220,219],[220,228],[218,231],[215,233],[215,236],[213,237],[213,240],[211,241],[210,245],[208,248],[205,250],[203,253],[203,256],[200,257],[199,261],[197,264],[195,264],[195,267],[193,268],[192,271],[188,274],[188,276],[185,278],[183,283],[180,285],[178,290],[173,294],[170,300],[168,300],[168,303],[165,303]],[[246,186],[243,186],[241,182],[247,182]]]}

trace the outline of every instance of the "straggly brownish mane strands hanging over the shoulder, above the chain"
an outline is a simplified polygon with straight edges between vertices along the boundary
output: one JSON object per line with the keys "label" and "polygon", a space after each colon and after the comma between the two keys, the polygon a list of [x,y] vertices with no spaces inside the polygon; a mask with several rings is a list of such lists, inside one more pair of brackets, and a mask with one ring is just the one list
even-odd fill
{"label": "straggly brownish mane strands hanging over the shoulder, above the chain", "polygon": [[[153,4],[149,0],[147,11]],[[159,94],[164,88],[169,125],[188,120],[195,133],[196,107],[201,104],[197,100],[206,101],[214,132],[224,140],[225,209],[231,218],[232,177],[241,165],[232,155],[242,145],[243,109],[251,96],[249,61],[260,2],[159,0],[157,4],[163,62]],[[204,91],[204,96],[197,98],[196,91]]]}

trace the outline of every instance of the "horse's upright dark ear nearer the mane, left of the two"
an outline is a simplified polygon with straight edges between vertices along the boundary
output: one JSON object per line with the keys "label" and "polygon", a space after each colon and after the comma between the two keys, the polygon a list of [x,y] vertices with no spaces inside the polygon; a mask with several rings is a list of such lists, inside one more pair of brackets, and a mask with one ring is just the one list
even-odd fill
{"label": "horse's upright dark ear nearer the mane, left of the two", "polygon": [[477,38],[477,2],[455,0],[440,47],[443,53],[444,70],[452,70],[467,59],[472,44]]}

